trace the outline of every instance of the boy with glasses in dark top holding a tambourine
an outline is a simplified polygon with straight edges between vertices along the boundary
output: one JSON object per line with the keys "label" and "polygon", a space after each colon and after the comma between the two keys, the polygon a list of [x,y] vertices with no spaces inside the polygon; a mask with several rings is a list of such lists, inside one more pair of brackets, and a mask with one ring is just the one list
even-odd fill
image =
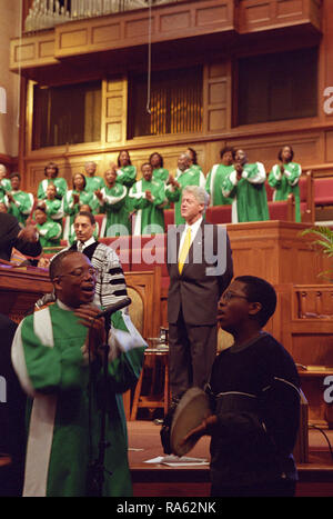
{"label": "boy with glasses in dark top holding a tambourine", "polygon": [[212,415],[184,438],[212,437],[214,497],[295,493],[300,383],[291,356],[262,330],[275,307],[274,288],[252,276],[235,278],[219,301],[218,320],[234,343],[212,368]]}

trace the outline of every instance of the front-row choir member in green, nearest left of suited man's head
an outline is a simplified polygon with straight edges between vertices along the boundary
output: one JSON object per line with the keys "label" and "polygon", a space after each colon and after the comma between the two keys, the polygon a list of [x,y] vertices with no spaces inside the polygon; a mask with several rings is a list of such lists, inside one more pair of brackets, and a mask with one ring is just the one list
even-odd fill
{"label": "front-row choir member in green, nearest left of suited man's head", "polygon": [[141,171],[142,179],[138,180],[129,192],[135,210],[133,234],[160,234],[164,232],[164,183],[152,178],[152,167],[149,162],[142,164]]}

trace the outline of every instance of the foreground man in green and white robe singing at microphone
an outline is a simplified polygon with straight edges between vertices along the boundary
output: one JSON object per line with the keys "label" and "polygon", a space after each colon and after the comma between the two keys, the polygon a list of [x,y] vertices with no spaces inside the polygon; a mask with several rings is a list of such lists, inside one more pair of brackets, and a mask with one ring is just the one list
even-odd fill
{"label": "foreground man in green and white robe singing at microphone", "polygon": [[[137,383],[147,345],[122,311],[112,315],[107,338],[104,319],[110,317],[97,318],[95,271],[87,256],[58,254],[50,278],[57,301],[26,317],[12,345],[12,363],[29,396],[23,496],[131,497],[122,393]],[[105,471],[100,492],[90,476],[99,456],[103,402]]]}

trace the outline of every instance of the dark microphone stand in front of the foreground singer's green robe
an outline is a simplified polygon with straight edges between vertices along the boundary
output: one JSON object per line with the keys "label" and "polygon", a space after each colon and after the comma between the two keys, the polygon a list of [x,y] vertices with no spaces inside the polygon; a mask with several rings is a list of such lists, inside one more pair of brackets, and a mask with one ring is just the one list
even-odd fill
{"label": "dark microphone stand in front of the foreground singer's green robe", "polygon": [[107,412],[108,412],[108,366],[109,366],[109,333],[111,329],[111,315],[105,316],[105,345],[101,347],[103,350],[103,376],[102,376],[102,388],[101,395],[101,428],[100,428],[100,440],[99,440],[99,455],[98,458],[92,462],[88,469],[88,496],[89,497],[102,497],[104,473],[112,476],[112,472],[105,469],[104,459],[107,448],[110,447],[110,442],[105,441],[105,427],[107,427]]}

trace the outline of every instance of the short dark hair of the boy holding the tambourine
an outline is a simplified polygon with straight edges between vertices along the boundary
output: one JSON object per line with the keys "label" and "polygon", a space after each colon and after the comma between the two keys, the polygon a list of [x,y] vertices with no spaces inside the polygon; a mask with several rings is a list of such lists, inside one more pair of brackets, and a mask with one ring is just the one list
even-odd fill
{"label": "short dark hair of the boy holding the tambourine", "polygon": [[262,309],[256,313],[261,327],[265,326],[276,308],[276,292],[265,279],[255,276],[239,276],[234,279],[245,285],[244,291],[250,302],[260,302]]}

